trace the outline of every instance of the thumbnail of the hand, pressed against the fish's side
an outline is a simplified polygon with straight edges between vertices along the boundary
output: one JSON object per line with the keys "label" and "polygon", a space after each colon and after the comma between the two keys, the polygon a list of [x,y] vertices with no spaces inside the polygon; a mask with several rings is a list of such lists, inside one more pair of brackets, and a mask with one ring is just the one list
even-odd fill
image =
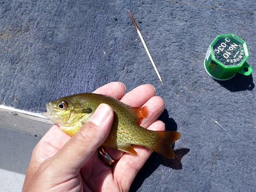
{"label": "thumbnail of the hand, pressed against the fish's side", "polygon": [[100,104],[91,117],[90,121],[99,126],[108,118],[110,113],[111,110],[107,104]]}

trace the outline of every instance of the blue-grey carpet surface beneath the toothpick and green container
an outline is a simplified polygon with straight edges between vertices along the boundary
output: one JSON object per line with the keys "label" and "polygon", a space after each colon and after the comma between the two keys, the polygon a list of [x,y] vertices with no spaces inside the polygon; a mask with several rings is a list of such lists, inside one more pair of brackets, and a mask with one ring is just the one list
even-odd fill
{"label": "blue-grey carpet surface beneath the toothpick and green container", "polygon": [[[182,137],[176,159],[154,153],[131,191],[255,191],[255,10],[253,0],[1,1],[0,104],[30,110],[111,81],[150,83],[165,101],[159,119]],[[251,75],[205,72],[226,33],[247,42]]]}

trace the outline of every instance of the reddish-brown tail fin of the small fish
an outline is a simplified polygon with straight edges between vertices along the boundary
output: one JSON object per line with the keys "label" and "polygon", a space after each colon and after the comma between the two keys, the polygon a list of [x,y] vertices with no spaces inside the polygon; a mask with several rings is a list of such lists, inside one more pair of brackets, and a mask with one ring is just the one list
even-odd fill
{"label": "reddish-brown tail fin of the small fish", "polygon": [[152,150],[168,159],[174,159],[175,155],[172,145],[180,138],[181,134],[176,131],[157,131],[157,133],[159,139],[157,145]]}

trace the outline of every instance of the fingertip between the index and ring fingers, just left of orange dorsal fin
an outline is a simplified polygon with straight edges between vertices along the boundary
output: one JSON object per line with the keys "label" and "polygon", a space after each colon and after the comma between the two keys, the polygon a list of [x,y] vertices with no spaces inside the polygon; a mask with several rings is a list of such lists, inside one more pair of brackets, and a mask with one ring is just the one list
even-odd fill
{"label": "fingertip between the index and ring fingers, just left of orange dorsal fin", "polygon": [[151,84],[143,84],[126,93],[121,101],[131,106],[142,106],[148,99],[156,95],[156,90]]}

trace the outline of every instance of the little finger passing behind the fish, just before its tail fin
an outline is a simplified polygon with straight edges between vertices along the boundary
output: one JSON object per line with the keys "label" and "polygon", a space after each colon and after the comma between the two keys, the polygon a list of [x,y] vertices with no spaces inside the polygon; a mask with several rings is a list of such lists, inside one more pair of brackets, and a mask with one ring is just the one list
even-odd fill
{"label": "little finger passing behind the fish, just before its tail fin", "polygon": [[[154,131],[164,131],[165,125],[162,121],[158,120],[152,123],[148,129]],[[125,153],[116,163],[113,170],[114,178],[124,190],[129,190],[129,187],[131,186],[137,173],[153,152],[149,148],[143,146],[133,145],[133,147],[138,155],[136,156]]]}

